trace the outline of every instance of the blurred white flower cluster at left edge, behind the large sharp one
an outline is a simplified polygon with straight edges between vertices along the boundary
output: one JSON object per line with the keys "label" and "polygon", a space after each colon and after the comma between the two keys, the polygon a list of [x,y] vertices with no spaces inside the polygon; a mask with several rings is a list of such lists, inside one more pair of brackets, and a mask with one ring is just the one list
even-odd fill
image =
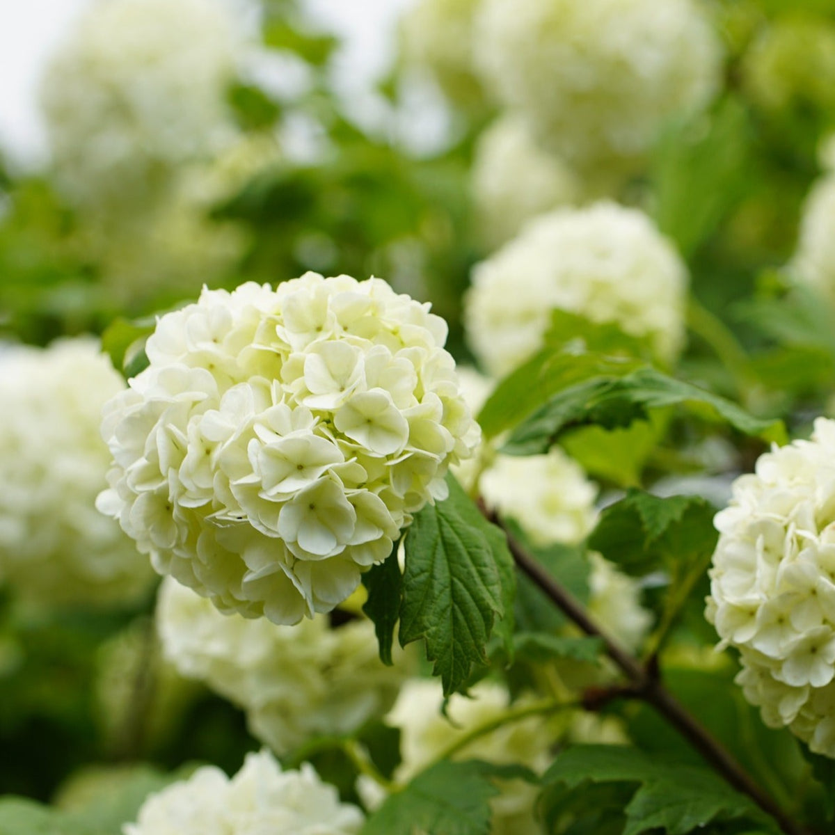
{"label": "blurred white flower cluster at left edge, behind the large sharp one", "polygon": [[154,579],[112,519],[101,409],[124,381],[92,338],[0,354],[0,580],[46,604],[107,604]]}

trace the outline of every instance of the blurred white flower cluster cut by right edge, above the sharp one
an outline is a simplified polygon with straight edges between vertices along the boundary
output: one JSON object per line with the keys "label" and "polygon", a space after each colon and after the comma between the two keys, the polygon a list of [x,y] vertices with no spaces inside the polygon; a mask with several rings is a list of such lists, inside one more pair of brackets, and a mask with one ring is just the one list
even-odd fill
{"label": "blurred white flower cluster cut by right edge, above the sharp one", "polygon": [[803,205],[792,275],[835,301],[835,173],[822,176]]}

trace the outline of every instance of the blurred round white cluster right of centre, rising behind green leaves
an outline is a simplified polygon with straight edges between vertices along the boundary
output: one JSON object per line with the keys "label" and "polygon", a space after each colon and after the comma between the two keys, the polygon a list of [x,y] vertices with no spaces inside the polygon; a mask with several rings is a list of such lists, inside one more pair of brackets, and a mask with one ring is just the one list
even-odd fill
{"label": "blurred round white cluster right of centre, rising behind green leaves", "polygon": [[464,324],[494,377],[536,352],[555,308],[647,339],[665,364],[681,352],[687,269],[640,210],[602,201],[539,215],[472,278]]}

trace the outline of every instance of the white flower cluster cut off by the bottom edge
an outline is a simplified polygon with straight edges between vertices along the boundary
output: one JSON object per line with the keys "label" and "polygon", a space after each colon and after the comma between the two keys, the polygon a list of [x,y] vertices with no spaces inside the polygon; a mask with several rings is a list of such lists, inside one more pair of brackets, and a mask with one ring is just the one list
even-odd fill
{"label": "white flower cluster cut off by the bottom edge", "polygon": [[364,816],[309,763],[282,772],[268,751],[247,754],[231,779],[205,766],[150,795],[124,835],[356,835]]}

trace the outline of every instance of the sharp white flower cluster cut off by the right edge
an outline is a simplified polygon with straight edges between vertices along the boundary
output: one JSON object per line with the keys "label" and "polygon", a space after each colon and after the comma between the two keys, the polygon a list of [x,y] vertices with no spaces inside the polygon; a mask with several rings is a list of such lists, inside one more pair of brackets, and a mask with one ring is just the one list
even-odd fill
{"label": "sharp white flower cluster cut off by the right edge", "polygon": [[768,726],[835,757],[835,421],[774,448],[716,514],[706,617]]}

